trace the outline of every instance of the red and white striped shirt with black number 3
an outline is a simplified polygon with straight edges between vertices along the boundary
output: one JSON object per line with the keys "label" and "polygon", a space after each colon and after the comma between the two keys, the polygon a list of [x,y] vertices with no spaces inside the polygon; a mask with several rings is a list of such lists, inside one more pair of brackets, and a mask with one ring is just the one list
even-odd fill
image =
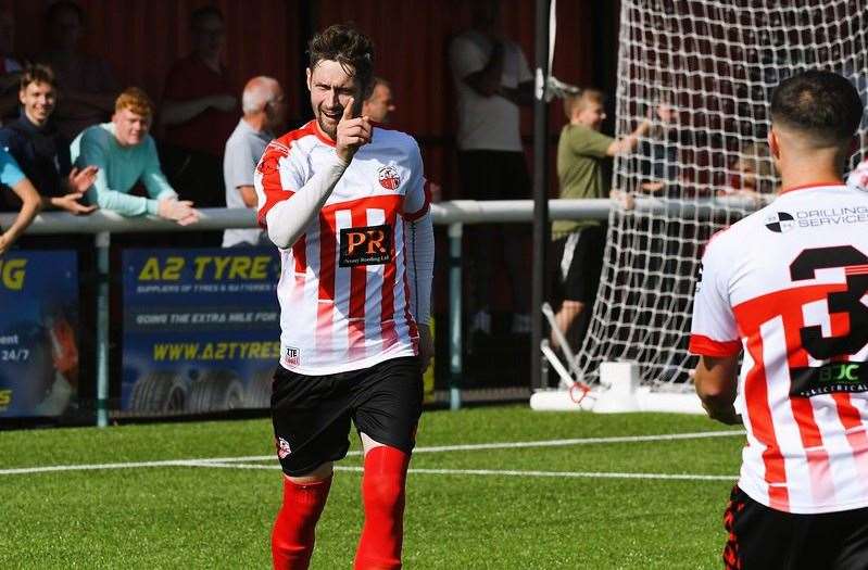
{"label": "red and white striped shirt with black number 3", "polygon": [[690,350],[744,351],[747,495],[796,514],[868,506],[868,193],[794,188],[715,236]]}

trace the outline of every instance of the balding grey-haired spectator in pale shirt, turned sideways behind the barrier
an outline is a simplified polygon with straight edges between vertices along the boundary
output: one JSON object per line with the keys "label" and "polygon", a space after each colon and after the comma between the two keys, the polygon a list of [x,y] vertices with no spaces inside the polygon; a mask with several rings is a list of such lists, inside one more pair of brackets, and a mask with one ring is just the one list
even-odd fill
{"label": "balding grey-haired spectator in pale shirt, turned sideways behind the barrier", "polygon": [[[244,86],[241,96],[244,116],[238,122],[223,155],[223,178],[226,181],[227,207],[256,207],[253,172],[265,147],[286,118],[284,90],[276,79],[254,77]],[[223,246],[256,245],[267,238],[259,229],[227,229]]]}

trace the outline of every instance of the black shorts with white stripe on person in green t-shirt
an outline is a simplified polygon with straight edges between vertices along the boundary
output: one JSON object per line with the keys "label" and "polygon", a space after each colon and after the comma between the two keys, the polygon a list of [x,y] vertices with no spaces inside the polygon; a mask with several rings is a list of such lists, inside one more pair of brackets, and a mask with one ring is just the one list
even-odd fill
{"label": "black shorts with white stripe on person in green t-shirt", "polygon": [[[606,230],[588,226],[553,242],[552,265],[556,296],[564,301],[593,303],[603,270]],[[559,286],[559,287],[558,287]]]}

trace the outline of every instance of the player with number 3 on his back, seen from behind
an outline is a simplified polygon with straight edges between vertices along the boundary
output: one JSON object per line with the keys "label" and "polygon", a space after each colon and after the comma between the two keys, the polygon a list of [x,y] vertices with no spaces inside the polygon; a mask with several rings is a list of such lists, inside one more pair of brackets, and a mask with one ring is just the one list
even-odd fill
{"label": "player with number 3 on his back, seen from behind", "polygon": [[780,195],[703,256],[696,392],[747,431],[727,568],[868,568],[868,193],[842,181],[861,114],[840,75],[782,81],[768,135]]}

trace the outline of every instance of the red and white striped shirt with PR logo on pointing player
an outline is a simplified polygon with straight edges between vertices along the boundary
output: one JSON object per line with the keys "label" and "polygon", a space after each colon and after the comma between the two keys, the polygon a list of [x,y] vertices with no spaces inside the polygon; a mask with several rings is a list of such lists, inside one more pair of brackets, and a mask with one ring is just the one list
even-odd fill
{"label": "red and white striped shirt with PR logo on pointing player", "polygon": [[[334,141],[313,121],[272,141],[254,176],[260,224],[334,161]],[[280,250],[284,367],[319,376],[417,353],[405,232],[428,205],[416,141],[376,127],[318,216]]]}

